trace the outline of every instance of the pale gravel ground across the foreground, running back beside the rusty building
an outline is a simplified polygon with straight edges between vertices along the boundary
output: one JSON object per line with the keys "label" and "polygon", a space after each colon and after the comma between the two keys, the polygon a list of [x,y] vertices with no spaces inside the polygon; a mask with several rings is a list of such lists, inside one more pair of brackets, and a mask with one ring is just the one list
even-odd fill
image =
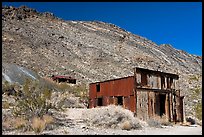
{"label": "pale gravel ground across the foreground, running back beside the rusty building", "polygon": [[[143,127],[137,130],[105,129],[87,125],[83,120],[86,109],[68,109],[56,115],[64,122],[54,130],[43,131],[43,135],[202,135],[202,126],[164,126],[163,128]],[[34,134],[34,132],[7,131],[3,134]]]}

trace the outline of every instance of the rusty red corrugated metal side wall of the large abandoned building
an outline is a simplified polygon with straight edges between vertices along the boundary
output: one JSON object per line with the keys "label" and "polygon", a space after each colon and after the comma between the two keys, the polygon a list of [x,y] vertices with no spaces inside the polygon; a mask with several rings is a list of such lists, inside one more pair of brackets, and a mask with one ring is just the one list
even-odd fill
{"label": "rusty red corrugated metal side wall of the large abandoned building", "polygon": [[[97,91],[97,85],[100,91]],[[134,77],[125,77],[104,82],[91,83],[89,86],[89,108],[97,106],[97,98],[102,97],[103,106],[118,104],[118,97],[122,98],[123,107],[135,111]],[[96,103],[95,103],[96,102]]]}

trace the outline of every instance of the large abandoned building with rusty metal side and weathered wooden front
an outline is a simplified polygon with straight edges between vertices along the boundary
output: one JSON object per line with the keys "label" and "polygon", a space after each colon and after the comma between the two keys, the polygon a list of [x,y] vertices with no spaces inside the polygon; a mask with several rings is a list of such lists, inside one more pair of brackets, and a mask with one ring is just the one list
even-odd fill
{"label": "large abandoned building with rusty metal side and weathered wooden front", "polygon": [[134,75],[89,84],[89,108],[122,105],[135,116],[148,120],[166,115],[170,122],[183,122],[183,96],[176,74],[134,68]]}

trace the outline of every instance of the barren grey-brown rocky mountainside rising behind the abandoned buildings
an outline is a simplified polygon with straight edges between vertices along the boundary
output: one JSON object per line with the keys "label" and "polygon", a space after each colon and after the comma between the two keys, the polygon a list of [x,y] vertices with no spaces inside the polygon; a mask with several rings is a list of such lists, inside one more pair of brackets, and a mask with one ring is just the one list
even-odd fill
{"label": "barren grey-brown rocky mountainside rising behind the abandoned buildings", "polygon": [[202,88],[201,56],[157,45],[110,23],[65,21],[25,6],[2,7],[2,61],[41,77],[67,74],[87,84],[132,75],[134,67],[179,74],[187,115],[195,115],[190,89]]}

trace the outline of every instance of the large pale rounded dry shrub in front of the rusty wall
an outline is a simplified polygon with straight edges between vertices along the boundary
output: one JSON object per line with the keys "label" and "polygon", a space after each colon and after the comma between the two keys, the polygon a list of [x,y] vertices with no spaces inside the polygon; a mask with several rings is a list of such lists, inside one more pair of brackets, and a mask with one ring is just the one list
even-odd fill
{"label": "large pale rounded dry shrub in front of the rusty wall", "polygon": [[139,120],[134,117],[133,112],[121,106],[109,105],[99,108],[88,109],[84,112],[84,118],[90,125],[105,128],[140,129]]}

